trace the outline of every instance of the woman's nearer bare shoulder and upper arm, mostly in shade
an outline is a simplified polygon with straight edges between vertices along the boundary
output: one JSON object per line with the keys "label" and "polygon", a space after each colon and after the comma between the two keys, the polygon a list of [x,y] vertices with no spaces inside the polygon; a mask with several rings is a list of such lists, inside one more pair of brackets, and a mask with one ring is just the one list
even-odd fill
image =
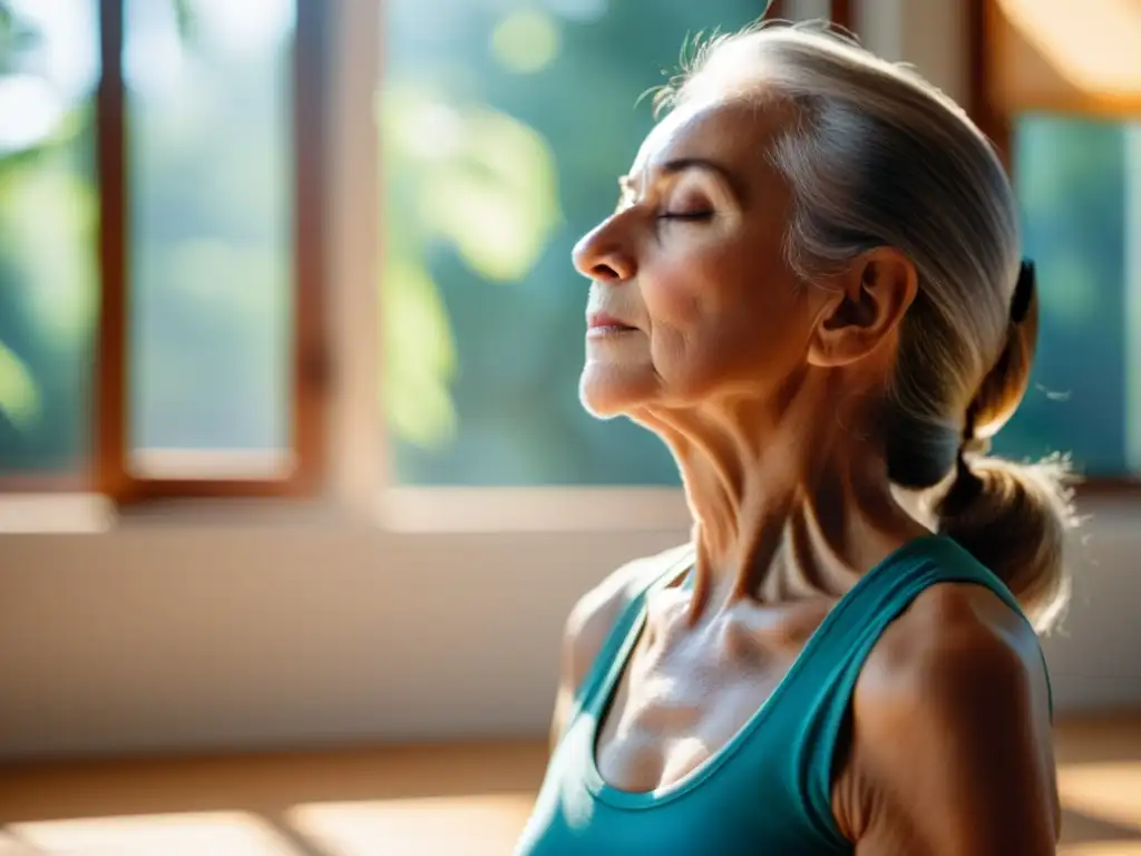
{"label": "woman's nearer bare shoulder and upper arm, mostly in shade", "polygon": [[994,592],[942,583],[916,598],[868,657],[852,717],[837,813],[857,853],[1054,853],[1045,668]]}

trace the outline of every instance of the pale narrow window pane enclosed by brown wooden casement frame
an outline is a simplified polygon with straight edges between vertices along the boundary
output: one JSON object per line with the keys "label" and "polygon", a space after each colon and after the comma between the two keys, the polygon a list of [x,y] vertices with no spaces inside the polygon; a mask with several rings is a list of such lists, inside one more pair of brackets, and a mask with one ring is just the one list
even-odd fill
{"label": "pale narrow window pane enclosed by brown wooden casement frame", "polygon": [[127,0],[131,466],[291,445],[292,0]]}

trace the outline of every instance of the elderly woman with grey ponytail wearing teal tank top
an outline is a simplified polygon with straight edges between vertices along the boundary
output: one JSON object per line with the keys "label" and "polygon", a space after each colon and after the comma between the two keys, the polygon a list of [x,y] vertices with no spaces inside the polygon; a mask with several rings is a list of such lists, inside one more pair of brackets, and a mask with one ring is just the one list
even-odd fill
{"label": "elderly woman with grey ponytail wearing teal tank top", "polygon": [[575,250],[581,395],[669,445],[693,540],[574,608],[517,853],[1054,853],[1071,518],[1059,465],[982,454],[1036,331],[1000,161],[819,27],[665,98]]}

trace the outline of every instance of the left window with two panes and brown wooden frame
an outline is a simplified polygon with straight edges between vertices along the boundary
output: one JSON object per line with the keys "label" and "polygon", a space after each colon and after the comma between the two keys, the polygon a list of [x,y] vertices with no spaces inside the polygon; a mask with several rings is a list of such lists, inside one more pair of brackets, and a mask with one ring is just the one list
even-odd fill
{"label": "left window with two panes and brown wooden frame", "polygon": [[311,484],[317,9],[0,0],[5,487]]}

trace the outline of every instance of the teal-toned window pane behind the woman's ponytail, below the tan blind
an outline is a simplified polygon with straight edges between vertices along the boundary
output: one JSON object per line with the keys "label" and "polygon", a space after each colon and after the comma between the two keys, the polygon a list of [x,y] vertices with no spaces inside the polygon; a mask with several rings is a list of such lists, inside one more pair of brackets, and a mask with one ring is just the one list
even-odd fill
{"label": "teal-toned window pane behind the woman's ponytail, below the tan blind", "polygon": [[1014,183],[1026,253],[1038,266],[1041,328],[1031,388],[998,435],[1000,451],[1073,452],[1091,476],[1141,469],[1136,404],[1130,414],[1141,366],[1128,358],[1141,336],[1139,128],[1050,115],[1015,124]]}

